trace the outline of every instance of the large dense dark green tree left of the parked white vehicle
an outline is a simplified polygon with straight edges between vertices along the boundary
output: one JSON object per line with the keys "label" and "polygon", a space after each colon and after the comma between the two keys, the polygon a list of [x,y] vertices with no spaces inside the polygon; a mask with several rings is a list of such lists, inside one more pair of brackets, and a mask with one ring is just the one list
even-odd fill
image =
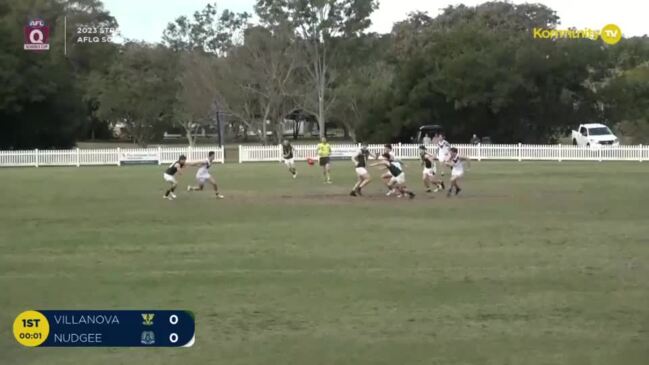
{"label": "large dense dark green tree left of the parked white vehicle", "polygon": [[591,85],[606,77],[607,49],[588,39],[534,39],[532,28],[556,25],[551,9],[493,2],[413,17],[394,28],[389,106],[368,120],[369,133],[408,139],[435,123],[451,138],[546,142],[601,118]]}

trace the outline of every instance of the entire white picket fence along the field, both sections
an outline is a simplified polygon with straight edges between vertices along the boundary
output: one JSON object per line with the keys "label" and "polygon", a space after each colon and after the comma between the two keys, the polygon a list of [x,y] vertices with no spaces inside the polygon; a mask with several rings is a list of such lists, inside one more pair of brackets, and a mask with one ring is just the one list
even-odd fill
{"label": "entire white picket fence along the field, both sections", "polygon": [[[620,146],[582,148],[566,145],[455,145],[463,156],[481,160],[513,161],[649,161],[649,146]],[[349,158],[358,150],[357,144],[332,145],[333,157]],[[370,145],[374,153],[381,153],[383,145]],[[294,145],[295,159],[304,161],[316,157],[315,145]],[[394,144],[395,155],[404,160],[419,158],[419,145]],[[435,150],[435,146],[429,146]],[[0,167],[19,166],[100,166],[115,165],[129,155],[148,155],[159,164],[168,164],[184,154],[189,160],[207,158],[209,151],[216,152],[215,161],[225,162],[220,147],[154,147],[71,150],[0,151]],[[281,161],[281,146],[239,146],[239,163]]]}

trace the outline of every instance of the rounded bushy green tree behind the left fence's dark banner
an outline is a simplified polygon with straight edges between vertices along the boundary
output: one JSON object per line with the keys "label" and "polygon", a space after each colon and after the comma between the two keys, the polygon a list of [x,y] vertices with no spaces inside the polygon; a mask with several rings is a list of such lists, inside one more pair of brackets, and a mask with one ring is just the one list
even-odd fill
{"label": "rounded bushy green tree behind the left fence's dark banner", "polygon": [[162,46],[128,43],[105,77],[93,82],[97,114],[123,122],[141,146],[159,139],[171,124],[176,95],[174,54]]}

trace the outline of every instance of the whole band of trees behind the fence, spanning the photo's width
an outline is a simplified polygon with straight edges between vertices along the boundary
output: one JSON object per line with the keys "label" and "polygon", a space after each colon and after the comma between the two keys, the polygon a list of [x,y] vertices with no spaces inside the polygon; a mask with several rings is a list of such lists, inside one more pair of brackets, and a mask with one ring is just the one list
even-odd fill
{"label": "whole band of trees behind the fence, spanning the photo's width", "polygon": [[[560,15],[540,4],[457,5],[367,31],[375,0],[258,0],[249,13],[208,4],[160,44],[71,43],[62,19],[117,27],[100,0],[0,1],[0,148],[71,147],[117,123],[141,145],[228,115],[229,128],[283,138],[288,116],[353,140],[408,141],[422,124],[451,140],[556,142],[604,122],[649,141],[649,38],[535,39]],[[50,26],[47,52],[22,49],[27,19]],[[68,27],[69,38],[74,30]]]}

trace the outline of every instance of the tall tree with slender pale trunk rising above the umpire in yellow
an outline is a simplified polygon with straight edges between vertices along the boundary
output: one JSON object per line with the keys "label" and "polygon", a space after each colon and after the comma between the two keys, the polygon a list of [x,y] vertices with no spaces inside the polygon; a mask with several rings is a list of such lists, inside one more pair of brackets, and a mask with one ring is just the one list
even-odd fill
{"label": "tall tree with slender pale trunk rising above the umpire in yellow", "polygon": [[303,109],[317,116],[321,137],[325,136],[326,112],[332,102],[334,40],[367,29],[377,7],[375,0],[257,0],[255,10],[263,23],[292,24],[301,38],[298,44],[313,90]]}

